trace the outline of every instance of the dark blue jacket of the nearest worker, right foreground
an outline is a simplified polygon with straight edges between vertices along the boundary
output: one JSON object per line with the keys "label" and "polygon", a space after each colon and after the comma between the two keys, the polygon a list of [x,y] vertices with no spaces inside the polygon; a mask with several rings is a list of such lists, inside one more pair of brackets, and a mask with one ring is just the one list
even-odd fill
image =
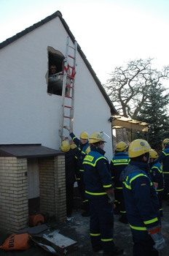
{"label": "dark blue jacket of the nearest worker, right foreground", "polygon": [[144,162],[133,162],[125,167],[120,177],[127,219],[131,230],[146,230],[159,225],[160,211],[157,192],[148,176],[149,166]]}

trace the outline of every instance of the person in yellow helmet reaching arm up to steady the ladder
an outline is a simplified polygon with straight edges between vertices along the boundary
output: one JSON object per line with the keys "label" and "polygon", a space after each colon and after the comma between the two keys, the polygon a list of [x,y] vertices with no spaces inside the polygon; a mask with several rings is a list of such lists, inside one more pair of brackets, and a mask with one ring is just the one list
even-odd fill
{"label": "person in yellow helmet reaching arm up to steady the ladder", "polygon": [[89,217],[90,216],[90,211],[89,211],[89,203],[88,200],[85,198],[85,189],[84,189],[84,181],[83,181],[83,159],[86,156],[86,154],[89,153],[90,151],[90,145],[89,145],[89,135],[87,132],[81,132],[80,134],[80,140],[76,138],[76,135],[72,132],[71,128],[69,127],[64,127],[65,129],[68,129],[68,132],[76,144],[76,181],[78,184],[79,192],[82,197],[82,203],[84,205],[84,212],[82,212],[82,217]]}

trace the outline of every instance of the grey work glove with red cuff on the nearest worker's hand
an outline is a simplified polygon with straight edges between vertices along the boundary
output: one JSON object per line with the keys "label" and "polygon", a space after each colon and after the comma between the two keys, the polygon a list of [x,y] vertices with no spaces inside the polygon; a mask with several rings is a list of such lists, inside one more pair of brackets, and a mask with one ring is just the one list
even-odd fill
{"label": "grey work glove with red cuff on the nearest worker's hand", "polygon": [[154,249],[157,249],[157,251],[164,249],[166,244],[165,244],[165,239],[162,236],[160,226],[152,227],[152,229],[147,229],[147,231],[149,235],[152,236],[152,239],[155,243],[153,246]]}

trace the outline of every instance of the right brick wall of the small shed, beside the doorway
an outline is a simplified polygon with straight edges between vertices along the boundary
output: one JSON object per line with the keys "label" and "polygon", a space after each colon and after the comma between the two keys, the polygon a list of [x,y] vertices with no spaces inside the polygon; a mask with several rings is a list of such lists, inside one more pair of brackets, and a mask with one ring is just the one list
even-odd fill
{"label": "right brick wall of the small shed, beside the doorway", "polygon": [[66,219],[65,156],[39,158],[39,180],[42,213],[62,222]]}

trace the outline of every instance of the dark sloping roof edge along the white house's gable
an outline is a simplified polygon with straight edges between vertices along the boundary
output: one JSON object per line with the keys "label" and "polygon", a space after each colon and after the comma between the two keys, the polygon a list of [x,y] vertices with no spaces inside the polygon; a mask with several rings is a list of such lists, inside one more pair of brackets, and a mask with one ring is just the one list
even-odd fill
{"label": "dark sloping roof edge along the white house's gable", "polygon": [[[20,37],[23,37],[25,34],[28,34],[29,32],[33,31],[34,29],[39,28],[39,26],[44,25],[44,23],[47,23],[48,21],[50,21],[50,20],[52,20],[56,17],[60,18],[60,21],[63,24],[64,28],[66,29],[66,31],[68,33],[68,36],[74,42],[75,41],[74,35],[71,33],[70,29],[68,28],[68,25],[67,25],[66,21],[62,18],[61,12],[57,11],[57,12],[53,13],[52,15],[48,16],[47,18],[44,18],[44,20],[41,20],[38,23],[35,23],[33,26],[30,26],[27,29],[21,31],[20,33],[15,34],[15,36],[6,39],[4,42],[1,42],[0,43],[0,49],[6,47],[10,43],[14,42],[15,40],[19,39]],[[93,68],[91,67],[89,61],[87,61],[86,56],[82,52],[79,45],[77,45],[77,50],[78,50],[80,56],[82,57],[84,63],[86,64],[87,68],[89,69],[91,75],[93,76],[93,79],[95,80],[95,83],[97,83],[98,88],[100,89],[101,93],[103,94],[103,97],[106,99],[106,102],[109,105],[109,108],[111,109],[111,114],[112,115],[118,114],[117,110],[115,110],[115,108],[114,108],[114,105],[111,103],[111,100],[109,99],[109,96],[106,94],[106,91],[103,89],[103,86],[101,85],[101,81],[96,76]]]}

